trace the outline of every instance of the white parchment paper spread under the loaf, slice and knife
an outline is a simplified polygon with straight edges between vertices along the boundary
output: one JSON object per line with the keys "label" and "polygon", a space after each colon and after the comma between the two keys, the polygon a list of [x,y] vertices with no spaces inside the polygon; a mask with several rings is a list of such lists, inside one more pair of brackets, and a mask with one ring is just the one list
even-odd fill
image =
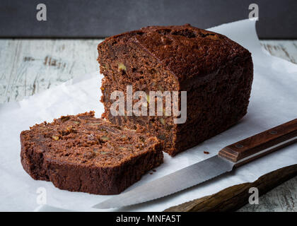
{"label": "white parchment paper spread under the loaf, slice and knife", "polygon": [[[228,131],[176,157],[165,154],[164,163],[156,168],[156,172],[144,175],[126,191],[216,155],[226,145],[297,117],[297,65],[272,57],[262,49],[255,32],[255,21],[240,20],[209,30],[230,37],[252,52],[255,78],[248,114]],[[0,210],[51,210],[49,206],[54,206],[69,210],[98,211],[91,206],[111,197],[63,191],[55,188],[51,182],[35,181],[23,170],[20,160],[19,135],[29,126],[45,120],[52,121],[61,115],[89,110],[95,110],[96,116],[100,117],[103,113],[103,105],[99,102],[101,78],[99,72],[91,73],[81,76],[79,81],[69,81],[21,102],[0,105]],[[210,154],[205,155],[204,151]],[[297,144],[178,194],[108,211],[165,210],[194,198],[214,194],[228,186],[253,182],[263,174],[294,164],[297,164]],[[49,206],[40,207],[38,188],[45,188]]]}

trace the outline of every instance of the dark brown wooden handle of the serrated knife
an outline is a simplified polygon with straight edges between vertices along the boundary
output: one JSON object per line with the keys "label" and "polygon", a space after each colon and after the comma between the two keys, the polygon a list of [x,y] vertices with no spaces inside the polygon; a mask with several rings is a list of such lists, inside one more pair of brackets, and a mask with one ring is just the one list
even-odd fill
{"label": "dark brown wooden handle of the serrated knife", "polygon": [[236,162],[235,166],[238,167],[296,141],[297,119],[294,119],[243,141],[228,145],[219,151],[219,156]]}

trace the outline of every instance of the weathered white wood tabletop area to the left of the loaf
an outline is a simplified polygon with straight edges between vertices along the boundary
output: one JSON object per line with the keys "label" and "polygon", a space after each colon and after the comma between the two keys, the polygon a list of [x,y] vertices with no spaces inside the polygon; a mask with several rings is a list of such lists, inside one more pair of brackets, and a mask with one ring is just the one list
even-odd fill
{"label": "weathered white wood tabletop area to the left of the loaf", "polygon": [[0,40],[0,102],[98,70],[100,40]]}

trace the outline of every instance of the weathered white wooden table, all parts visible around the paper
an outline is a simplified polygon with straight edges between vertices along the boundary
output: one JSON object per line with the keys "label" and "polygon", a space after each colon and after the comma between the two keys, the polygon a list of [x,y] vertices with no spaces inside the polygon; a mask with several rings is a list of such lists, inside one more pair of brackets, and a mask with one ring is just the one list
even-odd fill
{"label": "weathered white wooden table, all parts visible around the paper", "polygon": [[[100,40],[0,40],[0,103],[98,71]],[[297,40],[262,40],[270,54],[297,64]],[[297,211],[297,177],[260,197],[259,205],[239,211]]]}

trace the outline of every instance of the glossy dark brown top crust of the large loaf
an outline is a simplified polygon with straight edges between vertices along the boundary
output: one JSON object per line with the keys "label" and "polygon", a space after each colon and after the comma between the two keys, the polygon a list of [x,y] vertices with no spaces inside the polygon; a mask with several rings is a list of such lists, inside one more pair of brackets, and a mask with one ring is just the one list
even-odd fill
{"label": "glossy dark brown top crust of the large loaf", "polygon": [[115,42],[135,42],[183,83],[214,73],[235,58],[250,55],[247,49],[216,32],[191,25],[149,26],[108,37],[98,50]]}

